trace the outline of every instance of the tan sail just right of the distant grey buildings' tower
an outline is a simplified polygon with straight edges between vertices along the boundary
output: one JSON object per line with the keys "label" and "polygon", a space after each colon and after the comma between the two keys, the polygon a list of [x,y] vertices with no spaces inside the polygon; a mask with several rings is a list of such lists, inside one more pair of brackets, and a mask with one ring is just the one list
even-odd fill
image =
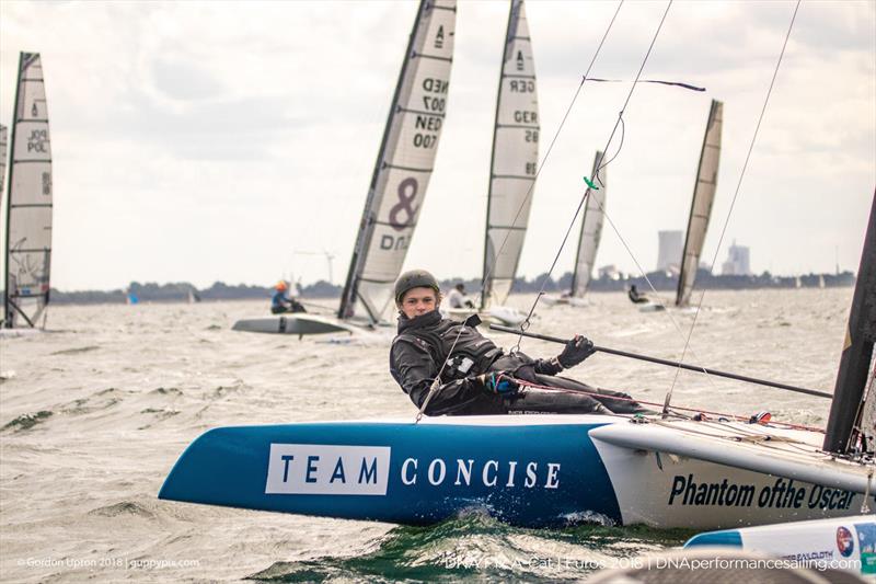
{"label": "tan sail just right of the distant grey buildings' tower", "polygon": [[681,254],[681,272],[678,275],[677,306],[687,306],[693,291],[693,280],[703,252],[705,232],[708,229],[708,217],[712,215],[712,203],[715,201],[715,188],[718,184],[718,161],[721,159],[721,126],[724,104],[712,100],[708,111],[708,123],[703,137],[703,149],[700,153],[700,168],[696,170],[696,185],[693,187],[691,216],[688,219],[688,236],[684,238],[684,251]]}

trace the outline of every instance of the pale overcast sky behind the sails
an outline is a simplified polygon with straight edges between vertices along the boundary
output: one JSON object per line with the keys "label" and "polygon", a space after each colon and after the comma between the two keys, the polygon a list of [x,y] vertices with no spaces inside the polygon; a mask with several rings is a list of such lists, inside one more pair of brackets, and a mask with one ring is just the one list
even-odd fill
{"label": "pale overcast sky behind the sails", "polygon": [[[632,80],[665,9],[627,0],[592,71]],[[541,156],[616,2],[527,3]],[[43,56],[53,286],[267,285],[346,273],[416,2],[0,2],[0,121],[19,51]],[[722,100],[711,263],[794,2],[677,1],[608,167],[608,214],[646,270],[684,229]],[[507,2],[461,1],[448,114],[406,266],[480,276]],[[876,2],[806,1],[718,250],[777,274],[857,270],[876,186]],[[585,84],[535,185],[520,271],[545,272],[629,84]],[[618,141],[610,149],[616,150]],[[577,239],[577,238],[576,238]],[[574,250],[560,260],[569,271]],[[597,265],[636,272],[606,227]]]}

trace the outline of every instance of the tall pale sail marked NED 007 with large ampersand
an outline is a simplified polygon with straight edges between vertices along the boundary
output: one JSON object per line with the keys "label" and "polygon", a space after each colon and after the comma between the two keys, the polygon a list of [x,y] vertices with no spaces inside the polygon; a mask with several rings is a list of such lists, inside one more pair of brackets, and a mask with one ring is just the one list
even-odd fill
{"label": "tall pale sail marked NED 007 with large ampersand", "polygon": [[378,322],[393,302],[447,107],[456,0],[422,0],[374,165],[338,317]]}

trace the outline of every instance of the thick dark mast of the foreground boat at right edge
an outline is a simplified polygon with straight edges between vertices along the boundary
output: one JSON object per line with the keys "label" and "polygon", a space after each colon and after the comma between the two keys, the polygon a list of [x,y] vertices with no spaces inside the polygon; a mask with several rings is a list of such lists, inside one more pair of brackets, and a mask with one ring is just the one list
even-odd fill
{"label": "thick dark mast of the foreground boat at right edge", "polygon": [[[853,431],[861,426],[864,388],[873,363],[876,341],[876,192],[869,210],[864,251],[857,268],[857,282],[849,313],[845,344],[840,357],[840,370],[833,388],[833,402],[828,417],[823,448],[845,454],[855,442]],[[876,396],[867,396],[867,400]],[[860,430],[858,430],[860,432]],[[871,428],[872,432],[872,428]],[[873,448],[873,445],[869,445]]]}

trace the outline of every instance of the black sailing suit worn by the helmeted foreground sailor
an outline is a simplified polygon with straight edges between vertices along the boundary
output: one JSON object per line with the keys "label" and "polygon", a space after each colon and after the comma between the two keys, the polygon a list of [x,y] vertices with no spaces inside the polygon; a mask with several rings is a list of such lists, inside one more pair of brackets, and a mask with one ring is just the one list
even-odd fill
{"label": "black sailing suit worn by the helmeted foreground sailor", "polygon": [[[433,391],[426,408],[427,415],[646,411],[634,401],[612,399],[630,399],[626,393],[556,377],[563,367],[555,359],[532,359],[519,352],[505,355],[477,329],[442,319],[438,310],[413,319],[399,314],[399,334],[390,350],[390,373],[417,408],[423,405],[433,380],[448,360],[441,385]],[[471,362],[470,368],[461,370],[465,369],[466,360]],[[475,379],[488,371],[504,371],[516,379],[566,391],[521,387],[514,396],[499,396]]]}

